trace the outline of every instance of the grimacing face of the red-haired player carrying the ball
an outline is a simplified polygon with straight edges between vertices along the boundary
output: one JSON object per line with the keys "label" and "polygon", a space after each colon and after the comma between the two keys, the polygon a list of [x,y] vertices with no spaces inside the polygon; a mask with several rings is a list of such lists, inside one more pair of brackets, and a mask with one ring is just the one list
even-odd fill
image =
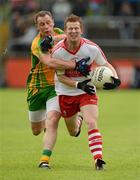
{"label": "grimacing face of the red-haired player carrying the ball", "polygon": [[65,34],[67,35],[67,40],[70,42],[77,42],[80,40],[82,29],[80,23],[77,22],[67,22],[65,28]]}

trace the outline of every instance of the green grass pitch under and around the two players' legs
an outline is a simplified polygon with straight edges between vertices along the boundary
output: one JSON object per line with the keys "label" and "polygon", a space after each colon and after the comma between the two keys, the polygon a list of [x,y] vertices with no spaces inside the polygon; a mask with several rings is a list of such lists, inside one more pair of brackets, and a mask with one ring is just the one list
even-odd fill
{"label": "green grass pitch under and around the two players' legs", "polygon": [[42,135],[33,136],[25,90],[0,90],[0,179],[2,180],[139,180],[140,90],[100,91],[99,127],[106,170],[96,172],[85,124],[78,138],[60,121],[52,169],[37,167]]}

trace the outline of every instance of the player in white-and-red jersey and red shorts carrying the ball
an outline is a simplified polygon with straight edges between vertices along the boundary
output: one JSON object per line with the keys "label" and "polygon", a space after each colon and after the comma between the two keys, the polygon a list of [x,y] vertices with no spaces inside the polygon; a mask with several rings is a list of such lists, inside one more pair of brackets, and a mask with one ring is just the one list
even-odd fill
{"label": "player in white-and-red jersey and red shorts carrying the ball", "polygon": [[[61,58],[65,61],[89,57],[88,65],[109,67],[118,79],[117,73],[113,66],[107,61],[100,47],[82,38],[83,24],[80,17],[70,15],[66,18],[64,24],[66,38],[60,41],[53,49],[52,56]],[[59,96],[59,103],[62,116],[65,119],[67,129],[73,134],[75,126],[75,117],[80,111],[87,125],[89,148],[93,155],[96,169],[103,169],[102,154],[102,135],[97,125],[98,119],[98,98],[96,95],[96,87],[90,85],[90,79],[76,72],[76,70],[57,70],[56,93]]]}

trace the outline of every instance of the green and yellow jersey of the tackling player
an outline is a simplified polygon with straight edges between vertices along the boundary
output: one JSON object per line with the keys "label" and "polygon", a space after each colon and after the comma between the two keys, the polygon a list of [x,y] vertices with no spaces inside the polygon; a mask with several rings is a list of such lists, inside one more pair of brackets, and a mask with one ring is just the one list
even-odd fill
{"label": "green and yellow jersey of the tackling player", "polygon": [[[54,43],[62,39],[64,32],[59,28],[54,28]],[[46,88],[54,85],[54,74],[55,70],[49,68],[47,65],[43,64],[39,60],[40,55],[40,42],[42,38],[38,34],[31,45],[31,70],[27,79],[27,87],[33,90],[33,94],[39,88]]]}

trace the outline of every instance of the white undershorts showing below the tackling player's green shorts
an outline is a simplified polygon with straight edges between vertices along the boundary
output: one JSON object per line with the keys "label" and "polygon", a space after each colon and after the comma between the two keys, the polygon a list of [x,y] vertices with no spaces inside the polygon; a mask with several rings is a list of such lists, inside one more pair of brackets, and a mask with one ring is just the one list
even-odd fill
{"label": "white undershorts showing below the tackling player's green shorts", "polygon": [[31,122],[41,122],[46,119],[47,113],[50,111],[60,112],[60,107],[58,103],[58,97],[53,97],[46,102],[46,110],[41,109],[38,111],[29,111],[29,120]]}

